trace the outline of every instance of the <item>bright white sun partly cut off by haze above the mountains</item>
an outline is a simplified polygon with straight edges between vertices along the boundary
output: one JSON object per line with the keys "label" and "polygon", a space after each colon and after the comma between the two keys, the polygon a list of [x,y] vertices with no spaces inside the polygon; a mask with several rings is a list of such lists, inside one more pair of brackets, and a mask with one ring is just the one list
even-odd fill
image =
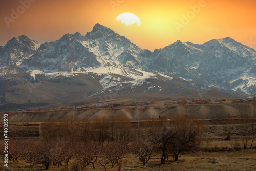
{"label": "bright white sun partly cut off by haze above the mountains", "polygon": [[116,17],[117,22],[119,22],[119,20],[124,23],[126,26],[131,26],[132,24],[137,24],[137,26],[140,26],[140,19],[139,17],[137,17],[135,14],[130,13],[130,12],[125,12],[122,13],[120,15],[118,15],[118,17]]}

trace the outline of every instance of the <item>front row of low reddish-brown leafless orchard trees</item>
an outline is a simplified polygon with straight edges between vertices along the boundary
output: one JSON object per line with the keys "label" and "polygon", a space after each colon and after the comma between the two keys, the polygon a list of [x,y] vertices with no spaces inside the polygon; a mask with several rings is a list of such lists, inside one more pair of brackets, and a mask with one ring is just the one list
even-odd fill
{"label": "front row of low reddish-brown leafless orchard trees", "polygon": [[[105,170],[107,165],[114,167],[118,165],[121,170],[123,157],[127,153],[136,154],[143,165],[151,157],[157,154],[157,148],[152,143],[138,139],[130,145],[127,142],[108,142],[99,144],[95,141],[53,141],[53,140],[10,140],[8,158],[13,162],[23,159],[31,165],[42,164],[48,170],[50,165],[69,167],[70,160],[73,160],[74,170],[85,168],[95,163],[100,164]],[[3,149],[3,148],[1,148]]]}

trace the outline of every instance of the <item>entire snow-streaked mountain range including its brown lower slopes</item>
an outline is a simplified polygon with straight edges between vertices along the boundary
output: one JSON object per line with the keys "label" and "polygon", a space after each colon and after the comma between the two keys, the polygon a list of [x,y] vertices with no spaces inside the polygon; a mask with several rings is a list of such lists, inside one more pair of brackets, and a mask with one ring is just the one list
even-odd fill
{"label": "entire snow-streaked mountain range including its brown lower slopes", "polygon": [[177,41],[151,52],[100,24],[85,36],[65,34],[41,45],[22,35],[0,46],[1,103],[131,93],[203,98],[202,91],[246,97],[256,92],[255,59],[254,49],[230,37]]}

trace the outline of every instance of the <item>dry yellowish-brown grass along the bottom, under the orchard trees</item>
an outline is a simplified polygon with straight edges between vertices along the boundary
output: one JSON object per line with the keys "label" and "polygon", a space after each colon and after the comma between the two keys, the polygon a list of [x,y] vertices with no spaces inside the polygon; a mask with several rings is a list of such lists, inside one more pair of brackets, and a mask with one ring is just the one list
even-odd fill
{"label": "dry yellowish-brown grass along the bottom, under the orchard trees", "polygon": [[[123,160],[122,170],[256,170],[256,150],[211,153],[197,152],[194,154],[181,155],[178,162],[169,160],[166,164],[160,164],[159,157],[160,156],[153,158],[146,166],[142,166],[142,163],[136,156],[129,154]],[[69,169],[65,168],[65,166],[61,166],[60,168],[57,168],[57,166],[51,166],[50,170],[73,170],[73,162],[74,161],[70,162]],[[96,169],[93,169],[92,165],[89,165],[83,170],[104,170],[104,168],[99,164],[96,164],[95,167]],[[25,171],[42,169],[44,169],[44,167],[30,166],[20,160],[19,163],[10,162],[7,170]],[[111,168],[111,165],[109,164],[108,170],[117,170],[117,166]]]}

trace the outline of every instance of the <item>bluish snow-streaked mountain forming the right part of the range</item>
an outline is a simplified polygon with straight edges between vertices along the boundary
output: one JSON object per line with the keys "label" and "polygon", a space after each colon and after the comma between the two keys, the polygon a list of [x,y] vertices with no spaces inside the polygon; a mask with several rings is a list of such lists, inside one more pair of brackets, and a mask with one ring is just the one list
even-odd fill
{"label": "bluish snow-streaked mountain forming the right part of the range", "polygon": [[[194,79],[221,89],[254,94],[255,59],[254,49],[227,37],[202,45],[177,41],[155,50],[150,66],[154,67],[155,72]],[[152,68],[145,66],[143,69]]]}

